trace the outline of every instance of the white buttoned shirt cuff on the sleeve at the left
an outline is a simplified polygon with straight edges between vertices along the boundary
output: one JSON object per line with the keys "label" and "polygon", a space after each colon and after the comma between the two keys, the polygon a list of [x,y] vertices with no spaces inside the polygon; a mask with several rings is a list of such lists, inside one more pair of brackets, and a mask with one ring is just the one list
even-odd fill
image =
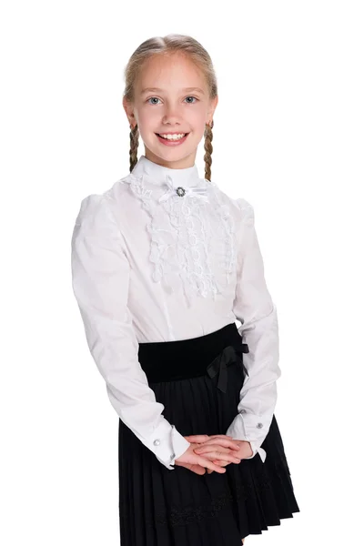
{"label": "white buttoned shirt cuff on the sleeve at the left", "polygon": [[175,470],[175,460],[178,459],[191,445],[180,434],[175,425],[171,425],[166,419],[157,426],[152,436],[144,441],[147,448],[154,452],[157,460],[168,470]]}

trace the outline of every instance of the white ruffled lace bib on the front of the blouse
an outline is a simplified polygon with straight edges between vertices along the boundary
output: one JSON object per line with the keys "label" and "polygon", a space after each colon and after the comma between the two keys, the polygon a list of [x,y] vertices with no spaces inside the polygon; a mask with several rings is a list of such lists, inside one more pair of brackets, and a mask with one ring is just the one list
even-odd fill
{"label": "white ruffled lace bib on the front of the blouse", "polygon": [[[172,293],[180,289],[182,279],[190,304],[196,295],[202,298],[212,295],[215,299],[218,293],[223,293],[236,271],[237,250],[233,218],[217,185],[208,182],[207,207],[208,214],[212,212],[213,227],[207,229],[204,199],[176,194],[159,203],[158,190],[165,191],[164,187],[148,189],[143,176],[133,174],[122,181],[129,183],[149,214],[147,231],[151,237],[149,259],[154,265],[153,280],[162,282],[167,292]],[[214,252],[209,251],[212,242]]]}

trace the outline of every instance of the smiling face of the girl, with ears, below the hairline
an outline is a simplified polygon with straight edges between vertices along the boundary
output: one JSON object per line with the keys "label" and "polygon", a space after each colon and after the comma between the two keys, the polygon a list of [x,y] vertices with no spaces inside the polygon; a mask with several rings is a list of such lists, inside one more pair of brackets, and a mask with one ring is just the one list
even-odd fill
{"label": "smiling face of the girl, with ears, below the hairline", "polygon": [[[152,88],[149,90],[148,88]],[[186,56],[153,56],[136,81],[135,102],[123,102],[129,124],[137,124],[145,156],[170,168],[192,167],[217,97],[210,99],[205,77]],[[180,140],[162,136],[185,134]]]}

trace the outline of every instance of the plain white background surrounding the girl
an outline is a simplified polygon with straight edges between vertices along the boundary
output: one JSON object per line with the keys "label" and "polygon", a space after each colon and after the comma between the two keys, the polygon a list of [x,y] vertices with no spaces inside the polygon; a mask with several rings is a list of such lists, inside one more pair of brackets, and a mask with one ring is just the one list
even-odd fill
{"label": "plain white background surrounding the girl", "polygon": [[[192,35],[212,57],[212,177],[255,207],[278,307],[276,416],[301,512],[246,544],[363,543],[362,9],[2,5],[4,546],[119,544],[118,417],[86,347],[70,242],[81,199],[128,173],[127,60],[169,33]],[[202,142],[197,167],[203,176]]]}

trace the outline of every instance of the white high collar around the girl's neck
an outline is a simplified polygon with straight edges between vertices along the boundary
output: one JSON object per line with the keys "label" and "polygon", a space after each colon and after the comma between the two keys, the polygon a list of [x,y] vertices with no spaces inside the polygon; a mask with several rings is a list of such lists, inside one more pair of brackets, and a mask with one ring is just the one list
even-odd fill
{"label": "white high collar around the girl's neck", "polygon": [[163,185],[167,177],[173,187],[194,187],[200,182],[196,164],[193,167],[170,168],[150,161],[146,156],[139,157],[136,166],[131,171],[136,177],[143,176],[148,181]]}

